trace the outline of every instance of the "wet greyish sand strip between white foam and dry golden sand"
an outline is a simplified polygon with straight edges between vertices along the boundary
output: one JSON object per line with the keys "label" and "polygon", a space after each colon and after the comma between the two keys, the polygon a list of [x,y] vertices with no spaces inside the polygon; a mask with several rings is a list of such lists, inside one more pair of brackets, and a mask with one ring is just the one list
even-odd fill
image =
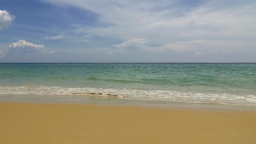
{"label": "wet greyish sand strip between white foam and dry golden sand", "polygon": [[1,94],[0,103],[38,103],[38,104],[85,104],[103,106],[139,106],[145,108],[166,108],[184,110],[210,111],[254,111],[256,107],[245,105],[218,105],[184,103],[172,101],[145,101],[137,99],[121,99],[117,97],[95,95],[35,95],[35,94]]}

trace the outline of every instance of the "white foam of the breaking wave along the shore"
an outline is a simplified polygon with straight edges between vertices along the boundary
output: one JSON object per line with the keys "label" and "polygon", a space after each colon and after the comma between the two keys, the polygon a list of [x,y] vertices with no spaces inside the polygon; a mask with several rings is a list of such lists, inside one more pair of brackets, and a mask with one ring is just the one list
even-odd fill
{"label": "white foam of the breaking wave along the shore", "polygon": [[36,85],[0,87],[0,94],[48,94],[48,95],[102,95],[138,100],[174,101],[188,103],[215,103],[227,105],[256,106],[256,95],[229,93],[195,93],[163,90],[65,88]]}

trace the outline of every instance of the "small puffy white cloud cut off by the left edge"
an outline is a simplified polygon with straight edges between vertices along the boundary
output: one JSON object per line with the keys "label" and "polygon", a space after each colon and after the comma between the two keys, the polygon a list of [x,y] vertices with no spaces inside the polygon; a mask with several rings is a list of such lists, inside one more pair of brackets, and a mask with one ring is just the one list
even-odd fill
{"label": "small puffy white cloud cut off by the left edge", "polygon": [[0,30],[7,28],[14,19],[15,16],[11,15],[6,10],[0,10]]}

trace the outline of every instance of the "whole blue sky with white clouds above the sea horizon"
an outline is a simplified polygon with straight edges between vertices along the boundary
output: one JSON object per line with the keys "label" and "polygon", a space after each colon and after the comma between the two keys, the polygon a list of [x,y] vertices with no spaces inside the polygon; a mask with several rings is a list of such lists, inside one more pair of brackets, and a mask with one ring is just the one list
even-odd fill
{"label": "whole blue sky with white clouds above the sea horizon", "polygon": [[0,62],[256,62],[256,1],[1,0]]}

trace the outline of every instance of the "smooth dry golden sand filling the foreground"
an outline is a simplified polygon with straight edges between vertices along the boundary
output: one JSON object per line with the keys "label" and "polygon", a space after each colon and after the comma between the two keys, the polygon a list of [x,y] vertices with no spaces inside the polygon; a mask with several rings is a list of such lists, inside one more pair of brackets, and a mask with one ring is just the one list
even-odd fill
{"label": "smooth dry golden sand filling the foreground", "polygon": [[0,144],[256,144],[256,112],[0,103]]}

